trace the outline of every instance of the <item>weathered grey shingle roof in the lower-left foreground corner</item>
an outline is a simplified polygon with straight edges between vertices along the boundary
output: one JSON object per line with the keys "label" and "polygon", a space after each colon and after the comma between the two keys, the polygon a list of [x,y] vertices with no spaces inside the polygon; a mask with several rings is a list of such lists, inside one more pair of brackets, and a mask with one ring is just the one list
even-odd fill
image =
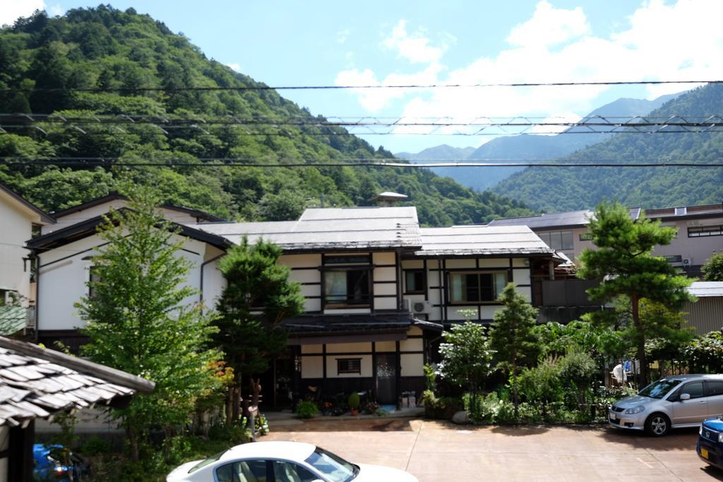
{"label": "weathered grey shingle roof in the lower-left foreground corner", "polygon": [[153,387],[124,371],[0,337],[0,426],[109,403]]}

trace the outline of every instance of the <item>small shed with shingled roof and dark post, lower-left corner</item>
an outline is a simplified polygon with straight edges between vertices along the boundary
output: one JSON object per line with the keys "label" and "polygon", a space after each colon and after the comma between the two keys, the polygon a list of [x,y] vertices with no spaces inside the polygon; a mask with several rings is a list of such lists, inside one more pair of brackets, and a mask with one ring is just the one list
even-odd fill
{"label": "small shed with shingled roof and dark post, lower-left corner", "polygon": [[36,418],[118,406],[154,387],[140,376],[0,337],[0,482],[33,481]]}

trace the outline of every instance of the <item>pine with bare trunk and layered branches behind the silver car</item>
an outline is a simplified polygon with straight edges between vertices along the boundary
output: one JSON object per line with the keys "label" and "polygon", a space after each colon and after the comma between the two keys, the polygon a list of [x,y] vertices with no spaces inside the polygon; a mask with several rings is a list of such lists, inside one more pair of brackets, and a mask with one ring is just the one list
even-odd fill
{"label": "pine with bare trunk and layered branches behind the silver car", "polygon": [[[600,282],[588,290],[593,300],[609,302],[619,296],[629,298],[631,335],[641,362],[641,382],[647,384],[645,341],[664,320],[651,317],[649,323],[643,322],[641,299],[647,298],[667,309],[680,309],[685,301],[693,299],[686,290],[692,280],[681,275],[664,258],[651,254],[655,246],[670,244],[676,230],[664,228],[659,221],[653,222],[643,214],[633,221],[628,210],[617,202],[598,205],[588,229],[597,249],[583,250],[578,277]],[[609,323],[609,312],[597,312],[591,319],[598,322],[607,319]]]}

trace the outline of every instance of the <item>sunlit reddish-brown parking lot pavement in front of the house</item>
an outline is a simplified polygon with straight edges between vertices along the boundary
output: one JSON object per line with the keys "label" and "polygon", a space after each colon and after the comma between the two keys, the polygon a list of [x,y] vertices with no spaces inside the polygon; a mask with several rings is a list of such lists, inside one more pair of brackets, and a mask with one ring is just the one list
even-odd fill
{"label": "sunlit reddish-brown parking lot pavement in front of the house", "polygon": [[698,459],[697,429],[654,439],[606,426],[469,427],[328,418],[271,426],[262,440],[311,442],[352,462],[432,481],[723,481]]}

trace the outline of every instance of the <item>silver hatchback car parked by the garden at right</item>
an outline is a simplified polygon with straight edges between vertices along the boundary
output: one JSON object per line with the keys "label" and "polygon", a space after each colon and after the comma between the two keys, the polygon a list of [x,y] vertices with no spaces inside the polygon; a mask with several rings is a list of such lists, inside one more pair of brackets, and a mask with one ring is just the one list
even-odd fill
{"label": "silver hatchback car parked by the garden at right", "polygon": [[723,375],[666,376],[638,395],[617,400],[608,421],[617,429],[645,430],[663,436],[670,429],[695,427],[723,414]]}

